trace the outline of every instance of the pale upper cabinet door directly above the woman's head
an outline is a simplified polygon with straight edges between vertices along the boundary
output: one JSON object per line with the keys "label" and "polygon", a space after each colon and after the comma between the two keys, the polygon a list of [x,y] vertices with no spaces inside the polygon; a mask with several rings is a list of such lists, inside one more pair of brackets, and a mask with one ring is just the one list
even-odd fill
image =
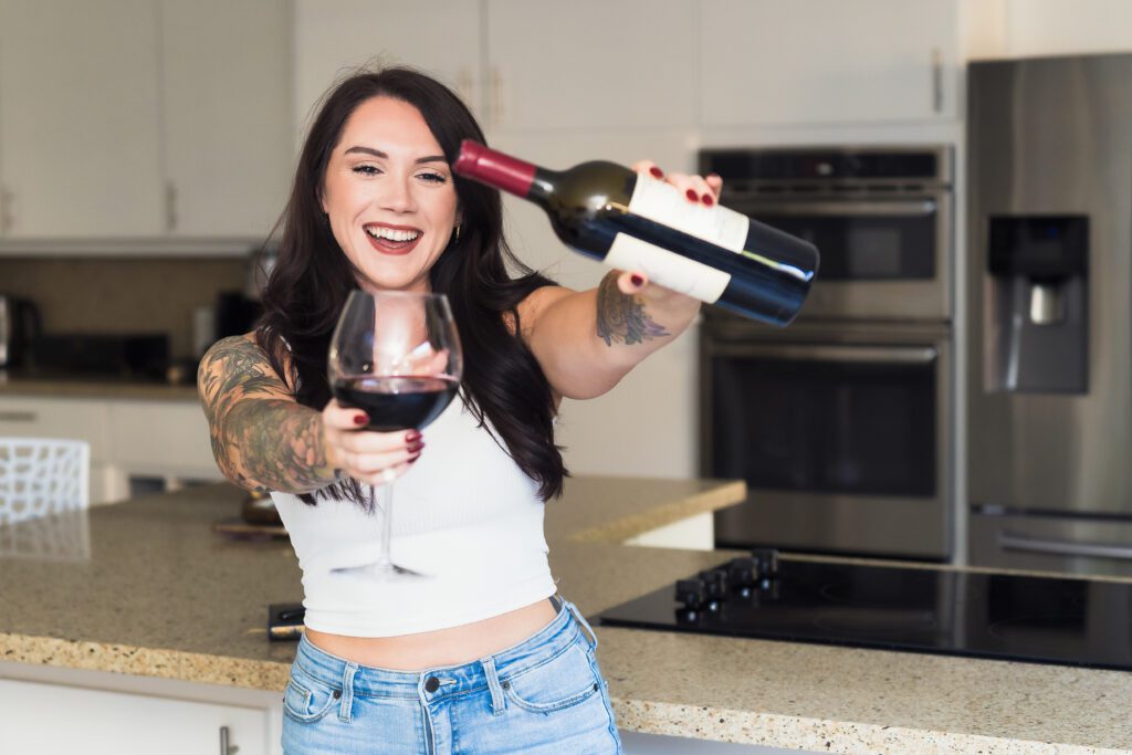
{"label": "pale upper cabinet door directly above the woman's head", "polygon": [[295,0],[295,108],[306,131],[323,93],[368,62],[419,68],[480,115],[480,5],[472,0]]}

